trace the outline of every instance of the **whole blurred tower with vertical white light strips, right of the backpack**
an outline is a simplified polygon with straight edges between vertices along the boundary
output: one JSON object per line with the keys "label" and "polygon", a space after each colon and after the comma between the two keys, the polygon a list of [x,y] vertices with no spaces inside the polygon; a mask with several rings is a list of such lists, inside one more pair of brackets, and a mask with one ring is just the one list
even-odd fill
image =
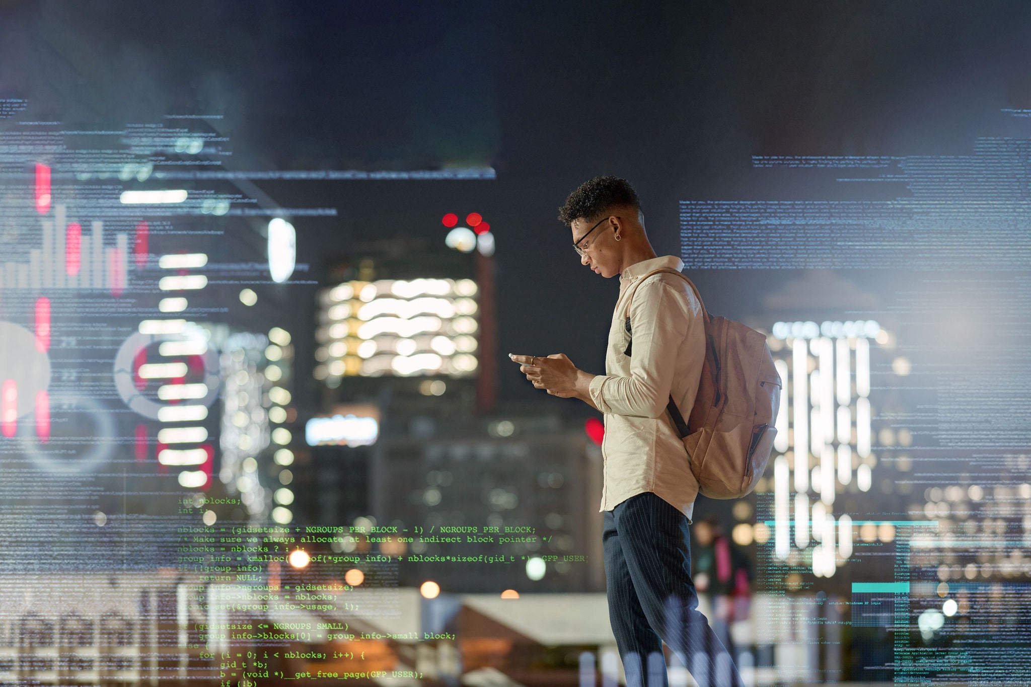
{"label": "whole blurred tower with vertical white light strips, right of the backpack", "polygon": [[750,531],[736,525],[734,539],[770,545],[777,585],[833,578],[820,588],[847,590],[842,572],[856,547],[891,544],[908,519],[897,493],[910,489],[898,478],[911,467],[911,435],[890,420],[904,402],[887,381],[908,360],[895,352],[895,325],[841,317],[875,311],[872,296],[826,274],[808,279],[768,297],[766,321],[754,322],[767,332],[784,390],[758,521]]}

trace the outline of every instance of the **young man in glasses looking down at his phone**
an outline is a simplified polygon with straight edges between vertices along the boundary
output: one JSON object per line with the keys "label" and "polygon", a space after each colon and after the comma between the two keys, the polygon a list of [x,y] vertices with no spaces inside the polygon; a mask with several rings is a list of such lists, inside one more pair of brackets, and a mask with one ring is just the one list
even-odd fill
{"label": "young man in glasses looking down at his phone", "polygon": [[[620,275],[605,375],[576,369],[565,354],[509,356],[536,388],[576,398],[604,413],[602,441],[605,578],[609,620],[628,687],[665,687],[664,641],[703,687],[742,685],[730,655],[698,612],[688,526],[698,494],[687,451],[666,411],[670,396],[691,415],[705,357],[701,305],[688,283],[661,267],[644,234],[633,187],[602,176],[559,208],[580,264]],[[640,283],[638,283],[640,282]],[[636,286],[625,319],[627,297]]]}

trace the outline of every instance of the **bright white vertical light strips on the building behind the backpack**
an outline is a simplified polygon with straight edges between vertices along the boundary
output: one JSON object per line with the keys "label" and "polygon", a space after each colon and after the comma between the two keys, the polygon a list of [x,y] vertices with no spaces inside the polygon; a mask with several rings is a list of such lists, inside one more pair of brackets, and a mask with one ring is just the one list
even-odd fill
{"label": "bright white vertical light strips on the building behind the backpack", "polygon": [[873,483],[871,347],[879,362],[877,348],[890,335],[875,320],[771,329],[773,362],[788,380],[774,440],[774,553],[786,560],[792,548],[806,551],[812,574],[831,577],[852,556],[856,535],[849,512],[835,516],[837,493],[854,480],[860,492]]}

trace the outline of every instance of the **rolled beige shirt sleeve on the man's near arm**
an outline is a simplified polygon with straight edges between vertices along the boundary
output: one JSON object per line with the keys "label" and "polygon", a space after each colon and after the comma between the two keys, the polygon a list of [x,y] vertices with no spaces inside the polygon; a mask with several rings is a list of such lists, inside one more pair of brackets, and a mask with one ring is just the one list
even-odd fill
{"label": "rolled beige shirt sleeve on the man's near arm", "polygon": [[603,413],[659,417],[669,403],[676,356],[687,346],[700,368],[705,356],[705,327],[696,299],[660,281],[638,286],[630,306],[633,344],[630,376],[598,375],[589,387]]}

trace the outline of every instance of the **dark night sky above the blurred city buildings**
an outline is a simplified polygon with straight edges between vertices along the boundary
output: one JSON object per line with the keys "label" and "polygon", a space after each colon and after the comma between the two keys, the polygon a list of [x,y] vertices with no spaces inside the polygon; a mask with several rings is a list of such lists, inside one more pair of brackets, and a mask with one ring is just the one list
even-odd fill
{"label": "dark night sky above the blurred city buildings", "polygon": [[[565,352],[601,373],[618,279],[580,266],[556,219],[577,184],[629,179],[657,253],[678,254],[678,200],[855,193],[755,170],[753,154],[968,152],[1000,108],[1031,107],[1029,20],[1024,2],[3,0],[0,96],[89,126],[223,114],[230,169],[493,167],[496,180],[260,185],[337,208],[295,222],[315,274],[356,240],[442,242],[443,213],[480,212],[499,355]],[[799,276],[689,274],[731,317]],[[499,365],[501,400],[570,403]]]}

